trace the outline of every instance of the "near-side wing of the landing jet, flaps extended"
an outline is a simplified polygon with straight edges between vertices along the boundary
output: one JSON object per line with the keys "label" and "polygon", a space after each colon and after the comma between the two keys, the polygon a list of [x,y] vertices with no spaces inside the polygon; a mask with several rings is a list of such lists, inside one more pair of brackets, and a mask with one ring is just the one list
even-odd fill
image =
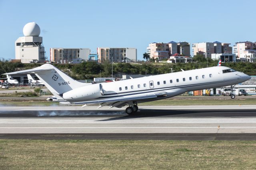
{"label": "near-side wing of the landing jet, flaps extended", "polygon": [[122,97],[114,97],[112,99],[102,99],[102,100],[94,100],[94,101],[84,101],[84,102],[74,102],[71,104],[84,104],[82,107],[91,104],[99,104],[100,107],[102,106],[110,106],[111,107],[118,107],[119,105],[124,105],[125,103],[129,103],[132,101],[140,101],[145,99],[154,99],[157,97],[165,97],[166,92],[158,92],[151,95],[132,95],[132,96],[122,96]]}

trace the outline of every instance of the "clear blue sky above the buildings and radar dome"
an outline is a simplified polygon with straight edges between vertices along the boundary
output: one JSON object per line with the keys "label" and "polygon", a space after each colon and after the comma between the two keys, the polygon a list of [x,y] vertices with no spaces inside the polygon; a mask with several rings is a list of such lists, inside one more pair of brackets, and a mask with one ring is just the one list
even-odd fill
{"label": "clear blue sky above the buildings and radar dome", "polygon": [[0,0],[0,58],[36,22],[46,56],[51,47],[135,47],[151,42],[256,41],[255,0]]}

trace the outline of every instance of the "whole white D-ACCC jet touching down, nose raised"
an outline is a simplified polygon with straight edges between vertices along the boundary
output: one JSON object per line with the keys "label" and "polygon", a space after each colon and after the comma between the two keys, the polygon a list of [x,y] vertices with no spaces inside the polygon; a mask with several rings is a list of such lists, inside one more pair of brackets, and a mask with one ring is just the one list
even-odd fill
{"label": "whole white D-ACCC jet touching down, nose raised", "polygon": [[[138,111],[138,103],[167,99],[201,89],[231,86],[242,83],[250,76],[224,66],[208,67],[110,83],[81,83],[51,64],[34,69],[6,74],[34,73],[58,99],[60,104],[124,107],[131,115]],[[232,99],[235,95],[231,95]]]}

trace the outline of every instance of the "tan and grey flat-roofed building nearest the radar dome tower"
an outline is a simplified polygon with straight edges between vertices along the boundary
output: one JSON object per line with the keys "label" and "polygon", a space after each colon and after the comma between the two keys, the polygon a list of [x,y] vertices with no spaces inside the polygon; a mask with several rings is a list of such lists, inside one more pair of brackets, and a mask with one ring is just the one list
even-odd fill
{"label": "tan and grey flat-roofed building nearest the radar dome tower", "polygon": [[50,61],[68,63],[74,59],[89,60],[89,48],[50,48]]}

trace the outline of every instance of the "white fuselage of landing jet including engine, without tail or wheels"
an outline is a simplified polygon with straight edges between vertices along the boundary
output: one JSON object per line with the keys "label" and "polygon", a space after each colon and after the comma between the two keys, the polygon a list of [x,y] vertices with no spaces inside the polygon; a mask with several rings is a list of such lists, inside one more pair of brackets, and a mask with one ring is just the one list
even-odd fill
{"label": "white fuselage of landing jet including engine, without tail or wheels", "polygon": [[92,84],[68,91],[63,94],[63,98],[72,103],[113,99],[122,96],[166,93],[164,97],[138,101],[138,103],[142,103],[174,97],[187,91],[235,85],[250,79],[250,76],[238,71],[223,73],[223,70],[227,69],[230,68],[222,66],[208,67],[204,69],[101,83],[103,94],[100,93],[99,84]]}

